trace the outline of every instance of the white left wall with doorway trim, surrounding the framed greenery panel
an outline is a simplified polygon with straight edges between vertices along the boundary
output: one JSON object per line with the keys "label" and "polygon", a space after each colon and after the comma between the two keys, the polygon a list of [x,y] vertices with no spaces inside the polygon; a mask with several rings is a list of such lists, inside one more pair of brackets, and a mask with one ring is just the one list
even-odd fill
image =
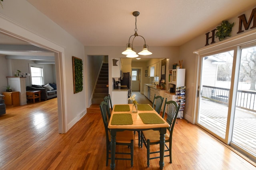
{"label": "white left wall with doorway trim, surrounding the framed greenery panel", "polygon": [[[74,94],[72,75],[72,56],[84,61],[84,46],[26,0],[6,0],[3,5],[4,8],[0,10],[0,31],[24,37],[35,45],[61,52],[58,72],[63,74],[57,75],[56,79],[60,80],[59,86],[63,90],[60,100],[63,100],[61,109],[64,113],[59,114],[63,114],[66,119],[64,128],[67,131],[86,113],[86,84],[82,92]],[[86,64],[84,62],[84,66]]]}

